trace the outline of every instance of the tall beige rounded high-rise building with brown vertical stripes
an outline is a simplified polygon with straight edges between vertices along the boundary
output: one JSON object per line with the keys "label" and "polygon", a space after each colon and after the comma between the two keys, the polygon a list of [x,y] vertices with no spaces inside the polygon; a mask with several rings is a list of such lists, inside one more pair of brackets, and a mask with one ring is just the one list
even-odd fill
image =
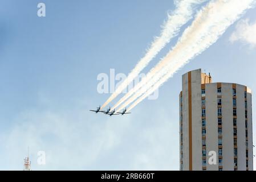
{"label": "tall beige rounded high-rise building with brown vertical stripes", "polygon": [[247,86],[213,83],[201,69],[182,76],[180,170],[253,170]]}

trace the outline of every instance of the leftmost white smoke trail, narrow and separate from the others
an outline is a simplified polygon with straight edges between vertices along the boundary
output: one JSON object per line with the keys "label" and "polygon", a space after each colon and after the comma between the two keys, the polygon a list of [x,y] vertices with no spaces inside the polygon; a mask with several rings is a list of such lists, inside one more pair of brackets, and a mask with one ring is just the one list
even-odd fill
{"label": "leftmost white smoke trail, narrow and separate from the others", "polygon": [[[146,55],[136,64],[135,68],[129,73],[128,77],[119,85],[115,92],[101,106],[103,109],[113,99],[115,99],[127,86],[136,78],[139,73],[148,65],[148,63],[170,42],[174,36],[178,34],[180,28],[187,23],[193,14],[194,5],[200,4],[207,0],[181,0],[175,1],[176,10],[168,15],[167,22],[162,26],[161,35],[153,41]],[[112,109],[113,110],[113,109]]]}

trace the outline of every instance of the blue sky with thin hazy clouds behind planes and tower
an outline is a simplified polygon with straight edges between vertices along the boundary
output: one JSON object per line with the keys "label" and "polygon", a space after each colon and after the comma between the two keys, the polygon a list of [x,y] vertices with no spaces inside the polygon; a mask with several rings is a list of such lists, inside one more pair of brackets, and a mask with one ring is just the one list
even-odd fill
{"label": "blue sky with thin hazy clouds behind planes and tower", "polygon": [[[40,2],[46,17],[37,16]],[[202,68],[214,82],[247,85],[254,93],[255,34],[242,39],[239,28],[256,33],[250,26],[256,9],[161,86],[157,100],[144,100],[125,117],[88,111],[110,96],[97,92],[97,75],[111,68],[128,75],[173,9],[169,0],[1,0],[0,169],[23,169],[29,146],[34,170],[178,170],[181,76]],[[256,118],[254,103],[253,94]],[[38,151],[46,152],[46,165],[37,164]]]}

